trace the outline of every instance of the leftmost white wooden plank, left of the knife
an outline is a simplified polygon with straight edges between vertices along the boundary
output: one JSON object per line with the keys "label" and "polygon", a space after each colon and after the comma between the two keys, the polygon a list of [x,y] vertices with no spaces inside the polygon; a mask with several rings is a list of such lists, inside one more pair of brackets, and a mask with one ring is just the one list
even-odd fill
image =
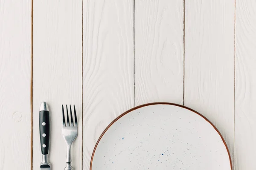
{"label": "leftmost white wooden plank, left of the knife", "polygon": [[0,169],[31,168],[31,0],[0,0]]}

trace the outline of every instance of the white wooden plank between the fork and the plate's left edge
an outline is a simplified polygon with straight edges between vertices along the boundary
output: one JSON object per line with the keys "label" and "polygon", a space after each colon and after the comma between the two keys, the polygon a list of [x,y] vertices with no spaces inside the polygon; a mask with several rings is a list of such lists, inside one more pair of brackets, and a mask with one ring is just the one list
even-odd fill
{"label": "white wooden plank between the fork and the plate's left edge", "polygon": [[107,125],[133,107],[133,0],[83,1],[83,169]]}

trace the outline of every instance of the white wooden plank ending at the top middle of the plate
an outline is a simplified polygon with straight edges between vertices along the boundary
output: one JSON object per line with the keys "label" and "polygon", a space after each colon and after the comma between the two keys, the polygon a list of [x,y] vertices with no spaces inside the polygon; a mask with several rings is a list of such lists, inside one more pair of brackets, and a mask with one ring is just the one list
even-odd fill
{"label": "white wooden plank ending at the top middle of the plate", "polygon": [[183,104],[183,0],[135,1],[135,106]]}

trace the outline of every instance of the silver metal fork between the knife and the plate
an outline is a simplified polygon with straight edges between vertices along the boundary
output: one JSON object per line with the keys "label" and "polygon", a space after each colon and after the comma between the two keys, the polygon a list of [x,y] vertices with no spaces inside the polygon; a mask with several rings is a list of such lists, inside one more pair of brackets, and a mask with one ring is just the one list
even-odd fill
{"label": "silver metal fork between the knife and the plate", "polygon": [[[66,105],[67,109],[67,105]],[[75,122],[73,122],[73,116],[72,116],[72,109],[70,105],[70,120],[68,116],[68,109],[67,109],[67,123],[65,123],[65,113],[64,113],[64,107],[62,105],[62,134],[65,139],[65,142],[67,144],[67,157],[66,157],[66,162],[67,166],[65,167],[64,170],[73,170],[73,167],[71,166],[71,144],[73,141],[76,139],[77,136],[77,118],[76,118],[76,108],[74,105],[74,116],[75,116]]]}

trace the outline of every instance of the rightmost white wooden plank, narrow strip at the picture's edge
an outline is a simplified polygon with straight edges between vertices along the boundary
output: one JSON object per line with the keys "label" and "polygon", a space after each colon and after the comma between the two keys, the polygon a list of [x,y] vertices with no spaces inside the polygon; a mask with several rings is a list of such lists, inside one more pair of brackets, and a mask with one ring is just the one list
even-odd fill
{"label": "rightmost white wooden plank, narrow strip at the picture's edge", "polygon": [[235,170],[256,167],[256,1],[236,0]]}

